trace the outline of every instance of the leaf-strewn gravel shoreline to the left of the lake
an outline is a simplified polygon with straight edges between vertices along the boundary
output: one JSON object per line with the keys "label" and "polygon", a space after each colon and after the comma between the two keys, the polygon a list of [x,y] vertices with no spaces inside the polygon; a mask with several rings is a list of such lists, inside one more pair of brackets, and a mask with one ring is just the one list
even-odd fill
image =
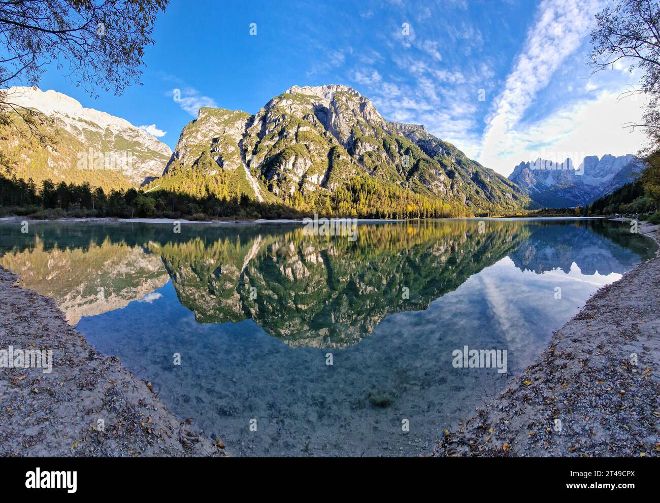
{"label": "leaf-strewn gravel shoreline to the left of the lake", "polygon": [[52,372],[0,368],[0,456],[222,456],[150,384],[94,350],[52,299],[0,267],[0,350],[53,350]]}

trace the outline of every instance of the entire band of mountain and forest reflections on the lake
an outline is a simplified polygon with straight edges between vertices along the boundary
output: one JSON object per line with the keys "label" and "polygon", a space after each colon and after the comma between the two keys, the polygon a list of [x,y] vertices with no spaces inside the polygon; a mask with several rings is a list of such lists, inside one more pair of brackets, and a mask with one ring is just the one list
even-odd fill
{"label": "entire band of mountain and forest reflections on the lake", "polygon": [[0,265],[54,298],[69,323],[168,296],[160,288],[170,283],[197,323],[252,319],[292,347],[328,349],[360,343],[389,314],[426,310],[507,256],[539,275],[576,266],[609,275],[655,253],[625,226],[601,220],[489,220],[488,232],[475,220],[392,222],[360,225],[355,242],[258,224],[240,234],[227,226],[174,234],[168,226],[127,233],[121,224],[44,224],[13,243]]}

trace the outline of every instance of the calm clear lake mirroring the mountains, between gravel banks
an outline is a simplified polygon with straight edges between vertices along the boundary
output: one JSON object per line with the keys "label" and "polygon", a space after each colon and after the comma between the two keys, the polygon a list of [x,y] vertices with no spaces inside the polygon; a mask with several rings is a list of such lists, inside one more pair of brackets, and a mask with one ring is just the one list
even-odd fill
{"label": "calm clear lake mirroring the mountains, between gravel banks", "polygon": [[429,453],[656,248],[601,219],[28,230],[0,224],[0,264],[232,455]]}

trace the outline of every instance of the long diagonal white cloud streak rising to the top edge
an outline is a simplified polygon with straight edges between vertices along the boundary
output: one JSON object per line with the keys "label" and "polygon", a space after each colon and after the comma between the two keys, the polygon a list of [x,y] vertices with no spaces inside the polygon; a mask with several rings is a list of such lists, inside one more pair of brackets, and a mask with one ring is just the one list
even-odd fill
{"label": "long diagonal white cloud streak rising to the top edge", "polygon": [[496,100],[495,110],[486,118],[480,162],[485,166],[504,168],[500,157],[515,146],[515,129],[537,93],[550,82],[552,74],[566,57],[589,34],[593,15],[602,0],[544,0],[504,91]]}

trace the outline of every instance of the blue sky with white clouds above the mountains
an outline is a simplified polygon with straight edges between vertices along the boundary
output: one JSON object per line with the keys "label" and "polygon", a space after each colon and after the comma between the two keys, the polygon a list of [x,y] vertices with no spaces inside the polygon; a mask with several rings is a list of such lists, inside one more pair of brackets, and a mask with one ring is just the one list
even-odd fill
{"label": "blue sky with white clouds above the mountains", "polygon": [[622,123],[644,100],[617,99],[638,76],[618,67],[589,78],[589,26],[608,1],[172,0],[143,86],[92,99],[52,67],[40,87],[154,125],[174,148],[199,106],[254,114],[294,84],[347,84],[385,119],[423,123],[507,175],[537,156],[642,147]]}

